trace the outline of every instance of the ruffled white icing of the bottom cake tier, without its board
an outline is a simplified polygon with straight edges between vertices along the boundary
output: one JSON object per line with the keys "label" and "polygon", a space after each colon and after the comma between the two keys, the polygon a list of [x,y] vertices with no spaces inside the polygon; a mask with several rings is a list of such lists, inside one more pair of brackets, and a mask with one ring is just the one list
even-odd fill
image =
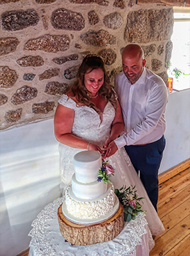
{"label": "ruffled white icing of the bottom cake tier, without its board", "polygon": [[[69,214],[79,219],[96,219],[101,215],[109,213],[114,206],[116,195],[113,184],[108,186],[106,196],[100,196],[94,201],[76,201],[69,195],[71,186],[68,186],[65,192],[65,203]],[[100,199],[100,200],[99,200]]]}

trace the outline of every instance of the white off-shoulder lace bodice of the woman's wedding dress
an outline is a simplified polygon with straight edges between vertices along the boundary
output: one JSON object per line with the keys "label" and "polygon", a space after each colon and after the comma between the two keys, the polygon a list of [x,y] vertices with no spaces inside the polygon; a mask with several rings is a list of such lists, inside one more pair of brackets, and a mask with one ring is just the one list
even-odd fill
{"label": "white off-shoulder lace bodice of the woman's wedding dress", "polygon": [[102,121],[96,110],[87,106],[78,106],[67,95],[62,95],[59,103],[74,110],[73,134],[86,139],[87,142],[94,142],[99,146],[104,145],[104,142],[109,137],[111,124],[115,117],[115,110],[111,102],[108,102],[104,107]]}

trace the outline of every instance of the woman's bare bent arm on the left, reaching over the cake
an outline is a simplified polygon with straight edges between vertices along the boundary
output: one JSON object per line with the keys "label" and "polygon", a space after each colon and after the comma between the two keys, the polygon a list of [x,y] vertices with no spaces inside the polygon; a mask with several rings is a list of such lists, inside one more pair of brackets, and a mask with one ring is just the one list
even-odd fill
{"label": "woman's bare bent arm on the left, reaching over the cake", "polygon": [[101,151],[99,146],[95,144],[89,144],[89,142],[86,142],[84,139],[72,134],[73,122],[74,110],[63,105],[58,105],[54,118],[54,132],[57,141],[77,149],[100,151],[102,154],[103,151]]}

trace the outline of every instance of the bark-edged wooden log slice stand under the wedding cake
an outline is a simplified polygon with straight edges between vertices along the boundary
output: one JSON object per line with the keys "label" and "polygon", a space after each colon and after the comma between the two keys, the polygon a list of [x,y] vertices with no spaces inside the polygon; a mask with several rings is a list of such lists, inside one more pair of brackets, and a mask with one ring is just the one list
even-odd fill
{"label": "bark-edged wooden log slice stand under the wedding cake", "polygon": [[110,219],[94,225],[72,223],[62,213],[62,204],[57,211],[60,233],[72,245],[94,245],[108,242],[121,233],[124,226],[123,206],[119,203],[118,211]]}

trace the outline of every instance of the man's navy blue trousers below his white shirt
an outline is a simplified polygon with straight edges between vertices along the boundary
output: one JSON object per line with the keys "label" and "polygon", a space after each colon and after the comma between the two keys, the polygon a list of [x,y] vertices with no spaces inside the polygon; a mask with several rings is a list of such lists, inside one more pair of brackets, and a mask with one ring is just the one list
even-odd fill
{"label": "man's navy blue trousers below his white shirt", "polygon": [[164,135],[157,142],[143,146],[125,146],[125,151],[128,153],[135,171],[137,171],[137,173],[140,171],[140,179],[156,210],[158,198],[158,169],[162,160],[164,147]]}

